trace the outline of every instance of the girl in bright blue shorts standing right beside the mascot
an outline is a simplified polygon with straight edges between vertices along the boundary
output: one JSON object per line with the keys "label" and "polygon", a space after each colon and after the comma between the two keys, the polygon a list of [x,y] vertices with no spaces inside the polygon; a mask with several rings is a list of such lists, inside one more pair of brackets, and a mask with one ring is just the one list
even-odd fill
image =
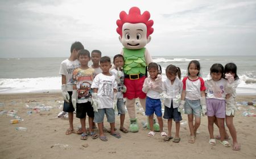
{"label": "girl in bright blue shorts standing right beside the mascot", "polygon": [[163,91],[163,81],[162,81],[162,69],[161,66],[155,62],[151,62],[146,67],[150,77],[147,77],[143,83],[142,91],[147,94],[146,97],[146,115],[148,116],[148,123],[150,125],[150,132],[147,136],[155,136],[154,132],[154,112],[158,118],[158,123],[160,126],[160,136],[167,136],[166,132],[163,132],[163,119],[162,119],[162,104],[160,101],[160,93]]}

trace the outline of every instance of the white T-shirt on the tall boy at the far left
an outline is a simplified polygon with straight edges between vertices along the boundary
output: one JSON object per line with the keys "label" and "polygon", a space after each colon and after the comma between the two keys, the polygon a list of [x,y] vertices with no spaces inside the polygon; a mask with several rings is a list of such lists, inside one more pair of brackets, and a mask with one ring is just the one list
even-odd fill
{"label": "white T-shirt on the tall boy at the far left", "polygon": [[70,61],[66,59],[60,64],[59,74],[66,76],[66,85],[68,91],[73,91],[72,74],[75,69],[79,68],[79,66],[79,60]]}

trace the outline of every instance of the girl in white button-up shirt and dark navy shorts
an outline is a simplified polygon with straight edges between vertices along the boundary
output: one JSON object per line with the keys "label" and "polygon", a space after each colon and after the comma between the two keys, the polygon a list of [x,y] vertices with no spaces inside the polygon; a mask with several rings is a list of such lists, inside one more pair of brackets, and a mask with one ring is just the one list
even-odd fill
{"label": "girl in white button-up shirt and dark navy shorts", "polygon": [[[164,138],[164,141],[170,141],[173,137],[171,136],[172,130],[172,119],[174,119],[176,125],[176,133],[174,143],[180,142],[179,131],[180,121],[182,120],[180,110],[180,98],[183,89],[183,83],[180,81],[181,78],[180,68],[174,65],[168,65],[166,68],[166,81],[163,82],[163,94],[167,98],[164,99],[164,119],[168,119],[168,136]],[[179,78],[176,78],[178,76]]]}

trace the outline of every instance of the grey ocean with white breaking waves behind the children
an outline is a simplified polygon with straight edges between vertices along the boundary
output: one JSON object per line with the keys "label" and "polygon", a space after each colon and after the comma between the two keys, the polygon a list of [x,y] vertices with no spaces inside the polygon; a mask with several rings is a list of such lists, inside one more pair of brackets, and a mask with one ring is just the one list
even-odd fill
{"label": "grey ocean with white breaking waves behind the children", "polygon": [[[0,58],[0,94],[60,92],[60,63],[66,58]],[[165,69],[170,64],[181,69],[181,78],[183,78],[187,74],[189,61],[199,60],[201,76],[206,80],[212,64],[225,65],[234,62],[242,81],[238,85],[237,93],[256,95],[256,56],[153,56],[152,58],[162,67],[163,79],[166,78]]]}

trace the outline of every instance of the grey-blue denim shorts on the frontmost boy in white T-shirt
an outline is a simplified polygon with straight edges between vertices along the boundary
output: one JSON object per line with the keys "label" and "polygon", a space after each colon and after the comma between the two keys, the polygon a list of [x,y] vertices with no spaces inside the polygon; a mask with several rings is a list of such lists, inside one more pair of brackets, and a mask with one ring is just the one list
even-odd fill
{"label": "grey-blue denim shorts on the frontmost boy in white T-shirt", "polygon": [[94,111],[94,123],[102,123],[104,122],[104,115],[106,114],[106,117],[108,119],[109,123],[115,122],[115,111],[113,108],[102,108],[98,109],[98,112]]}

